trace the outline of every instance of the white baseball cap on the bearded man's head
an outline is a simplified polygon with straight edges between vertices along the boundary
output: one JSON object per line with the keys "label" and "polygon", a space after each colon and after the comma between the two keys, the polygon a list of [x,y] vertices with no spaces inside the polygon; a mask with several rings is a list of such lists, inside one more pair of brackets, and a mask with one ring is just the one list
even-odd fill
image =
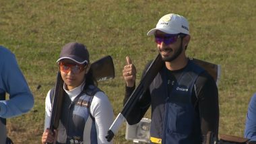
{"label": "white baseball cap on the bearded man's head", "polygon": [[189,34],[189,22],[181,15],[169,13],[164,15],[156,24],[156,28],[148,31],[148,36],[154,35],[156,30],[160,30],[167,34]]}

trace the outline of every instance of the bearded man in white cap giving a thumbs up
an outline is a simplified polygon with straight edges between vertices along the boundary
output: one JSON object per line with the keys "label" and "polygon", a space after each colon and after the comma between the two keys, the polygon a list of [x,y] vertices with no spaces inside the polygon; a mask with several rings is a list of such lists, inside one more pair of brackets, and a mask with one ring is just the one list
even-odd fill
{"label": "bearded man in white cap giving a thumbs up", "polygon": [[[155,36],[164,65],[127,116],[129,124],[139,122],[151,105],[152,143],[205,143],[209,131],[218,136],[218,88],[207,71],[186,57],[190,35],[185,17],[164,15],[150,35]],[[125,104],[135,89],[136,69],[129,57],[123,77]]]}

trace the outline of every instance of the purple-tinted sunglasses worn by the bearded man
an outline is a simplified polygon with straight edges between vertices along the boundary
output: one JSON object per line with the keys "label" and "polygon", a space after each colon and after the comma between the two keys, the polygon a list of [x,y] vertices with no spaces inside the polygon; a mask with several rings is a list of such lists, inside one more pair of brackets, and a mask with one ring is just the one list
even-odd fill
{"label": "purple-tinted sunglasses worn by the bearded man", "polygon": [[[185,35],[184,35],[185,36]],[[173,44],[174,42],[177,42],[178,38],[184,37],[182,34],[165,34],[164,36],[157,36],[155,35],[155,41],[157,44],[161,44],[164,42],[164,44]]]}

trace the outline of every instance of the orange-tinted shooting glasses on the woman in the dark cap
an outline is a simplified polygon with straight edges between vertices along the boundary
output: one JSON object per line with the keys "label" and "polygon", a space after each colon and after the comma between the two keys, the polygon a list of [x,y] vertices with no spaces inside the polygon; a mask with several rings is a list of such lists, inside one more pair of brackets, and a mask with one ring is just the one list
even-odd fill
{"label": "orange-tinted shooting glasses on the woman in the dark cap", "polygon": [[69,73],[69,71],[72,71],[74,74],[81,73],[85,67],[86,65],[59,62],[59,69],[64,73]]}

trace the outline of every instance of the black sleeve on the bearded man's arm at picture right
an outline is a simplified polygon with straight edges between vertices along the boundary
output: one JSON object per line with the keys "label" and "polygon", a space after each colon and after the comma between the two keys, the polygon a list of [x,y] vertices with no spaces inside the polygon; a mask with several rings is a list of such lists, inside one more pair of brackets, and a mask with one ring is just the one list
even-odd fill
{"label": "black sleeve on the bearded man's arm at picture right", "polygon": [[[196,89],[196,91],[195,91]],[[201,120],[201,134],[205,141],[207,132],[211,131],[218,137],[219,102],[216,81],[208,73],[201,73],[195,82],[193,99]]]}

